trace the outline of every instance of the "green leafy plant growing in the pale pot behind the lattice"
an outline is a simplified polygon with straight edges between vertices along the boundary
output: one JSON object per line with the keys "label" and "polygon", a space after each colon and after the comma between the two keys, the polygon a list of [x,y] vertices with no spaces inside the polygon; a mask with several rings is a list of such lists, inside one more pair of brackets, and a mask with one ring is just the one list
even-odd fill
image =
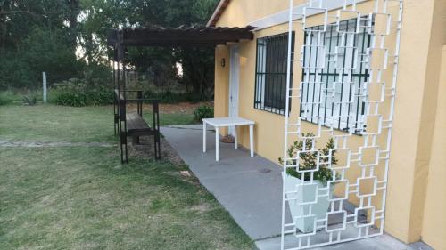
{"label": "green leafy plant growing in the pale pot behind the lattice", "polygon": [[[314,137],[313,133],[302,133],[302,138],[305,139],[303,141],[294,141],[287,150],[287,157],[290,158],[287,165],[298,165],[298,160],[295,159],[296,157],[299,157],[300,160],[298,167],[287,168],[286,173],[303,181],[310,181],[310,173],[301,173],[299,171],[316,169],[319,161],[319,168],[318,171],[314,172],[313,180],[318,180],[326,185],[326,181],[333,180],[333,174],[335,173],[335,171],[327,168],[326,165],[330,161],[332,165],[338,162],[338,159],[335,157],[336,150],[331,150],[335,149],[335,141],[333,138],[330,138],[324,148],[317,149],[316,145],[313,148],[313,143],[316,144],[316,140],[310,139],[311,137]],[[281,157],[278,160],[281,165],[284,164],[284,160]],[[299,171],[297,168],[299,168]]]}

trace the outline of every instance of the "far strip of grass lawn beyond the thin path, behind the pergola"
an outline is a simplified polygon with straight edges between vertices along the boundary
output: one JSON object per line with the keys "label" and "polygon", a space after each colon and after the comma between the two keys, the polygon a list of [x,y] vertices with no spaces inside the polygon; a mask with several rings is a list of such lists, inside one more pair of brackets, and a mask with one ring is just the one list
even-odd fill
{"label": "far strip of grass lawn beyond the thin path, behind the pergola", "polygon": [[[147,122],[152,115],[145,113]],[[160,114],[161,125],[193,123],[192,114]],[[54,105],[0,106],[0,140],[115,141],[113,108]]]}

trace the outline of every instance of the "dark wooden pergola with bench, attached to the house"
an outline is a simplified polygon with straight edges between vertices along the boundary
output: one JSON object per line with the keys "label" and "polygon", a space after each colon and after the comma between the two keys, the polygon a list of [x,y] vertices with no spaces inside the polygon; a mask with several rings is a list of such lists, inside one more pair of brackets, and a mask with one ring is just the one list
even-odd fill
{"label": "dark wooden pergola with bench, attached to the house", "polygon": [[[128,90],[126,79],[126,50],[128,47],[202,47],[238,43],[252,40],[251,26],[228,27],[185,27],[162,28],[108,28],[107,45],[113,49],[114,125],[115,134],[120,134],[121,162],[128,163],[128,136],[133,143],[140,136],[153,135],[155,158],[161,158],[159,101],[144,99],[140,90]],[[122,68],[122,69],[120,69]],[[120,72],[123,74],[120,74]],[[117,74],[118,73],[118,74]],[[136,99],[128,99],[128,93],[136,93]],[[143,101],[153,105],[153,121],[149,125],[143,119]],[[136,102],[136,113],[128,112],[128,102]]]}

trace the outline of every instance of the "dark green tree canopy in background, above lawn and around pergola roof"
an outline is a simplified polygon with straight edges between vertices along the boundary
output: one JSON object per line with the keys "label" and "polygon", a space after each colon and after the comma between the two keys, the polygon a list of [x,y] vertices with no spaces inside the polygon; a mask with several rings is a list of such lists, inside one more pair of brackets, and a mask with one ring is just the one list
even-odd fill
{"label": "dark green tree canopy in background, above lawn and around pergola roof", "polygon": [[[0,87],[37,87],[42,71],[50,81],[83,77],[109,67],[104,28],[204,25],[218,0],[0,0]],[[134,69],[149,70],[162,84],[176,77],[202,95],[212,83],[213,51],[135,48]],[[161,76],[161,74],[163,76]]]}

